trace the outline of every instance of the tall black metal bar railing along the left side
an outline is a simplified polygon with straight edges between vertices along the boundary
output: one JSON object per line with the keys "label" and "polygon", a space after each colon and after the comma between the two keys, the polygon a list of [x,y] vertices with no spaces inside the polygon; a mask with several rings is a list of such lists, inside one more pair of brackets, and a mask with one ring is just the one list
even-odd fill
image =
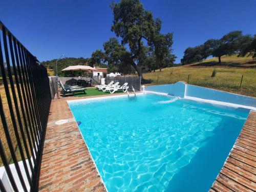
{"label": "tall black metal bar railing along the left side", "polygon": [[1,21],[0,67],[0,166],[9,179],[0,179],[0,190],[36,191],[51,104],[49,79]]}

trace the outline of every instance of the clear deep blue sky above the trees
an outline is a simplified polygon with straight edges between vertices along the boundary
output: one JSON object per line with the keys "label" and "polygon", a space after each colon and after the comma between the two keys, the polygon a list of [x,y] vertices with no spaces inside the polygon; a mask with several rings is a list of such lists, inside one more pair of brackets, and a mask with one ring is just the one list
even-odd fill
{"label": "clear deep blue sky above the trees", "polygon": [[[1,2],[0,19],[40,61],[90,57],[111,32],[112,0],[11,0]],[[119,1],[115,1],[119,2]],[[232,30],[256,34],[256,0],[143,0],[162,19],[162,33],[174,32],[174,54]]]}

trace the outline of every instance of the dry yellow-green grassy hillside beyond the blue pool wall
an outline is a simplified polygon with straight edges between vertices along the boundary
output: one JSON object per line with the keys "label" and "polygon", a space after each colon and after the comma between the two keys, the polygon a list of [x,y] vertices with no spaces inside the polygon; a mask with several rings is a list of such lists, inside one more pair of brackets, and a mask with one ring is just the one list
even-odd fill
{"label": "dry yellow-green grassy hillside beyond the blue pool wall", "polygon": [[[250,57],[223,56],[222,63],[217,58],[207,59],[201,63],[162,69],[160,72],[143,74],[143,78],[153,84],[175,83],[186,81],[197,86],[218,89],[256,97],[256,60]],[[216,76],[211,77],[216,70]],[[189,75],[189,80],[188,80]],[[243,75],[242,86],[240,83]]]}

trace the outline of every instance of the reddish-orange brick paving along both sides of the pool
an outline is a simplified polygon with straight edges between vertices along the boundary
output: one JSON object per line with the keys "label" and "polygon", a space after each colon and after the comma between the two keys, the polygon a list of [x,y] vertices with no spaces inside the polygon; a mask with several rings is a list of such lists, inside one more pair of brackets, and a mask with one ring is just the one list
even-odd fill
{"label": "reddish-orange brick paving along both sides of the pool", "polygon": [[[92,97],[105,96],[112,95]],[[52,100],[39,191],[106,191],[67,103],[67,100],[92,97]],[[68,122],[56,125],[61,119],[68,119]],[[255,191],[255,152],[256,112],[251,112],[210,191]]]}

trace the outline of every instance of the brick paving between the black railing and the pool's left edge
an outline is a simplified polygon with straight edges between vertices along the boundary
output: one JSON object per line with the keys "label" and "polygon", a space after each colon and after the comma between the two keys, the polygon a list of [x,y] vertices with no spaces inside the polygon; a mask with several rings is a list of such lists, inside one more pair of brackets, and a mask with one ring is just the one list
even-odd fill
{"label": "brick paving between the black railing and the pool's left edge", "polygon": [[[106,191],[67,100],[112,95],[52,100],[42,153],[39,191]],[[55,122],[61,119],[68,122],[56,125]]]}

